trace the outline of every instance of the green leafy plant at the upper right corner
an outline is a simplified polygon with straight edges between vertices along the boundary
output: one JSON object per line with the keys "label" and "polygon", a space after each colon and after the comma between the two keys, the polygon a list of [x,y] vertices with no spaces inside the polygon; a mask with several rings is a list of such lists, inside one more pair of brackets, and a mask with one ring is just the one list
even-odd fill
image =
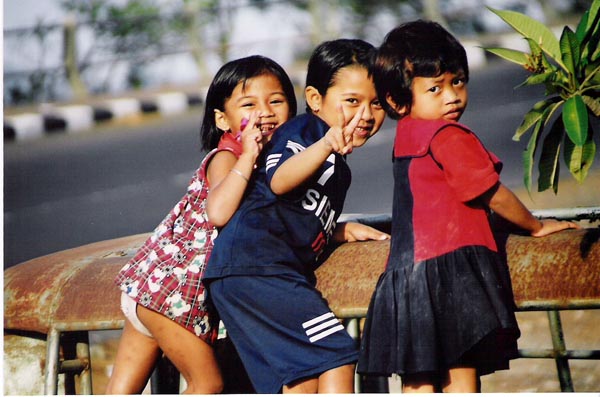
{"label": "green leafy plant at the upper right corner", "polygon": [[600,116],[600,0],[594,0],[577,28],[565,26],[560,38],[542,23],[514,11],[489,8],[529,44],[530,53],[485,48],[523,66],[531,74],[520,85],[543,84],[544,99],[527,112],[513,140],[531,130],[523,153],[524,183],[531,192],[535,155],[538,191],[558,192],[560,153],[573,177],[582,183],[596,156],[591,118]]}

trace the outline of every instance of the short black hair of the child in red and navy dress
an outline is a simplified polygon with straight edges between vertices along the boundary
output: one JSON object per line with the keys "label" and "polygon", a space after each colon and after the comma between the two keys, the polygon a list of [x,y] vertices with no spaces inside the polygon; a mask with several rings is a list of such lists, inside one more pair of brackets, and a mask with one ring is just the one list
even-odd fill
{"label": "short black hair of the child in red and navy dress", "polygon": [[437,77],[460,70],[469,80],[467,53],[458,40],[440,24],[417,20],[392,29],[377,50],[371,68],[377,96],[388,116],[400,114],[397,107],[412,104],[411,84],[415,77]]}

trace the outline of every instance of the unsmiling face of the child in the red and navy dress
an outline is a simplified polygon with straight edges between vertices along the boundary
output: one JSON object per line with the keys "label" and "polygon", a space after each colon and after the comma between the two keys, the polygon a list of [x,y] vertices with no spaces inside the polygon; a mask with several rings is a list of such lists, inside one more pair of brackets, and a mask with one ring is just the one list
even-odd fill
{"label": "unsmiling face of the child in the red and navy dress", "polygon": [[467,108],[467,82],[462,71],[437,77],[415,77],[410,116],[414,119],[458,121]]}

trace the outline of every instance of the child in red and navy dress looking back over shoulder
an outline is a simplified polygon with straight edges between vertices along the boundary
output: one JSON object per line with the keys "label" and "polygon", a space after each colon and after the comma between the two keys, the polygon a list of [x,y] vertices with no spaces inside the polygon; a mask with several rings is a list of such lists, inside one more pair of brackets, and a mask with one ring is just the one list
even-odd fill
{"label": "child in red and navy dress looking back over shoulder", "polygon": [[480,375],[508,368],[519,337],[490,210],[538,237],[576,225],[534,218],[500,182],[500,161],[458,123],[468,99],[467,58],[440,25],[392,30],[373,77],[399,121],[391,249],[358,372],[399,374],[404,392],[479,391]]}

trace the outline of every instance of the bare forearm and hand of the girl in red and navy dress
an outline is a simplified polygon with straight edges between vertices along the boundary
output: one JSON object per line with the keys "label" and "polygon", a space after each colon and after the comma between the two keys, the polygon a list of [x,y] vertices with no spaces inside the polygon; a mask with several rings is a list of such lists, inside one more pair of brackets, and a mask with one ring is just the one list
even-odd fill
{"label": "bare forearm and hand of the girl in red and navy dress", "polygon": [[525,207],[506,186],[498,183],[483,195],[483,200],[495,213],[515,225],[529,231],[534,237],[543,237],[564,229],[577,229],[574,222],[555,219],[539,220]]}

